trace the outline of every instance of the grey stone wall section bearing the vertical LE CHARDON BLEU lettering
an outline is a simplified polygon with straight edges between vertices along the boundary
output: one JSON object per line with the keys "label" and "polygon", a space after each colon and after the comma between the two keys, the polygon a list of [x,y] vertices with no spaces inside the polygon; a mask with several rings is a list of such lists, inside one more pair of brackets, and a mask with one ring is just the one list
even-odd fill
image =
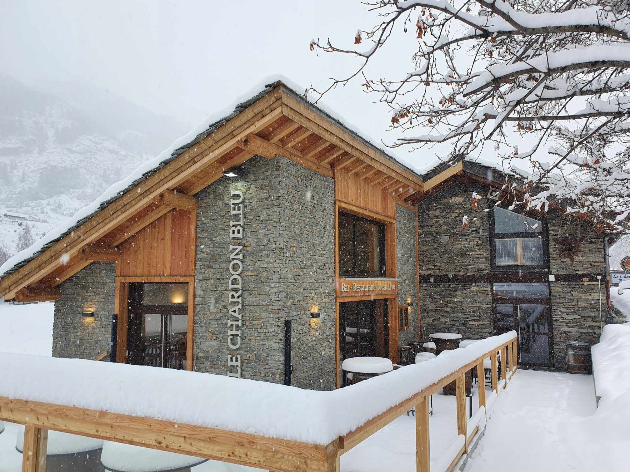
{"label": "grey stone wall section bearing the vertical LE CHARDON BLEU lettering", "polygon": [[[243,177],[197,194],[195,370],[282,383],[284,321],[292,320],[292,384],[335,386],[333,180],[277,157],[253,157]],[[243,239],[229,237],[229,194],[244,194]],[[243,245],[243,345],[227,346],[229,246]],[[311,322],[311,308],[321,318]]]}

